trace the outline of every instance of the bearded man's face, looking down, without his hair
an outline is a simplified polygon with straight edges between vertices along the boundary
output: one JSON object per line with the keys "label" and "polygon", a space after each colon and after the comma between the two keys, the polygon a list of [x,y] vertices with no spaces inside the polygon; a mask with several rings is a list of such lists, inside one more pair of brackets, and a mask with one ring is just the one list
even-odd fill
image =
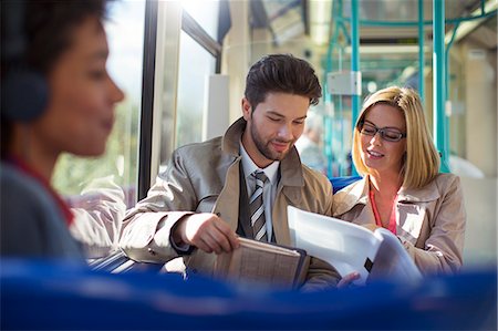
{"label": "bearded man's face, looking down, without his hair", "polygon": [[260,168],[286,157],[304,128],[310,100],[289,93],[268,93],[255,110],[242,100],[247,127],[243,147]]}

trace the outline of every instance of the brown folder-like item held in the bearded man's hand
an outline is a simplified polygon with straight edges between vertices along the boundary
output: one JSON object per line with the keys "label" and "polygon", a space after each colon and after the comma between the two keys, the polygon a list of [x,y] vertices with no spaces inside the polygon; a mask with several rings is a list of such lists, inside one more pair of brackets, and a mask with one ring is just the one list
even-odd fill
{"label": "brown folder-like item held in the bearded man's hand", "polygon": [[303,250],[239,238],[240,247],[217,256],[215,276],[236,283],[294,288],[303,268]]}

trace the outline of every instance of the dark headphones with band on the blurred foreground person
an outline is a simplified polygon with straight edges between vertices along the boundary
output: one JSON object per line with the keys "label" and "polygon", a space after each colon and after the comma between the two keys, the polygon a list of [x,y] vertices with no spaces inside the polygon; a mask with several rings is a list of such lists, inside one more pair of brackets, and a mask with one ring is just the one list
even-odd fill
{"label": "dark headphones with band on the blurred foreground person", "polygon": [[1,1],[1,115],[29,123],[41,116],[49,101],[46,79],[29,68],[24,31],[25,1]]}

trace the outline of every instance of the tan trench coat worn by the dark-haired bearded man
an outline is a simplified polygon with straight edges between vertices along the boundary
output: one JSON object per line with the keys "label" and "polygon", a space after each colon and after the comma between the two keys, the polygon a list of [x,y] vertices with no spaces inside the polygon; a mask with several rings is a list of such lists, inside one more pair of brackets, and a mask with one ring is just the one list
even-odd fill
{"label": "tan trench coat worn by the dark-haired bearded man", "polygon": [[[214,213],[235,231],[239,206],[239,142],[246,121],[239,118],[225,136],[191,144],[173,153],[148,196],[124,219],[122,249],[139,261],[164,262],[178,256],[172,247],[172,227],[185,215]],[[272,223],[277,244],[291,245],[287,206],[331,215],[332,186],[329,179],[303,166],[295,148],[280,163],[281,178],[273,204]],[[184,256],[191,272],[211,275],[214,254],[194,250]],[[311,259],[307,289],[334,287],[340,276],[328,263]]]}

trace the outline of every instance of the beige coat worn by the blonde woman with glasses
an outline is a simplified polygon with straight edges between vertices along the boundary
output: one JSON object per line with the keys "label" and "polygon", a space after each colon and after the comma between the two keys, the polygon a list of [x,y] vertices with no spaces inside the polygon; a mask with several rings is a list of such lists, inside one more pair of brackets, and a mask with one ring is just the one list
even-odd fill
{"label": "beige coat worn by the blonde woman with glasses", "polygon": [[[369,176],[334,195],[334,217],[375,224],[369,199]],[[419,189],[401,189],[396,231],[422,273],[453,273],[463,263],[466,213],[460,180],[439,174]]]}

